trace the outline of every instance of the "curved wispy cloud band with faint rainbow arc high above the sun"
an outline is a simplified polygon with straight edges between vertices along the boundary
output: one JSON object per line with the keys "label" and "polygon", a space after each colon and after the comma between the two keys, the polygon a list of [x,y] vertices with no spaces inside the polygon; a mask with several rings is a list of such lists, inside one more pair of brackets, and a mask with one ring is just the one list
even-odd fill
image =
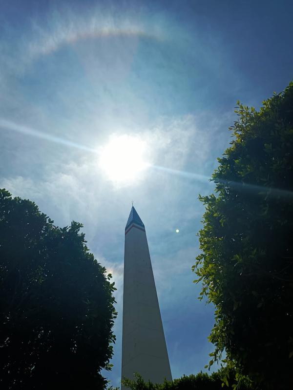
{"label": "curved wispy cloud band with faint rainbow arc high above the sun", "polygon": [[[9,33],[11,27],[5,27]],[[82,14],[77,14],[64,7],[62,11],[51,12],[45,22],[31,19],[24,35],[10,40],[9,45],[4,40],[0,41],[2,70],[6,68],[9,74],[21,74],[33,61],[66,45],[108,37],[162,40],[164,33],[159,23],[146,23],[135,13],[117,12],[114,16],[113,12],[91,6]]]}

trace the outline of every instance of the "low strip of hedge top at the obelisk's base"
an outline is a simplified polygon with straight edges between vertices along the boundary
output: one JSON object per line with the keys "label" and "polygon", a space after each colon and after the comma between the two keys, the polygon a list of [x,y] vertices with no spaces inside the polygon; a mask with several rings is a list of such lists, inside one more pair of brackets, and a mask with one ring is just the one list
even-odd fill
{"label": "low strip of hedge top at the obelisk's base", "polygon": [[[199,372],[197,375],[183,375],[181,378],[163,384],[154,384],[145,382],[141,375],[136,374],[135,380],[123,379],[122,384],[130,390],[232,390],[237,386],[235,379],[235,370],[221,369],[212,374]],[[242,380],[241,390],[251,389],[250,384]]]}

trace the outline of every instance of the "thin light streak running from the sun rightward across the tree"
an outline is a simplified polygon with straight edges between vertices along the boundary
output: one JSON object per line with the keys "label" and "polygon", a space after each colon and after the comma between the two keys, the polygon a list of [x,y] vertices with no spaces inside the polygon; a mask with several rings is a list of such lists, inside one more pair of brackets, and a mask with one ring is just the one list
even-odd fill
{"label": "thin light streak running from the sun rightward across the tree", "polygon": [[[176,169],[165,168],[158,165],[151,165],[150,167],[159,171],[167,172],[171,175],[178,175],[181,177],[185,177],[187,179],[202,181],[206,184],[208,183],[216,184],[213,180],[210,179],[209,176],[195,174],[186,171],[179,171]],[[255,185],[255,184],[242,183],[242,182],[223,180],[223,179],[216,179],[216,181],[225,184],[227,187],[230,187],[234,190],[239,190],[247,193],[251,193],[251,192],[257,193],[257,195],[261,195],[261,196],[265,195],[265,196],[270,196],[275,198],[277,197],[277,198],[293,199],[293,192],[288,190],[282,190],[279,188],[265,187],[265,186]]]}

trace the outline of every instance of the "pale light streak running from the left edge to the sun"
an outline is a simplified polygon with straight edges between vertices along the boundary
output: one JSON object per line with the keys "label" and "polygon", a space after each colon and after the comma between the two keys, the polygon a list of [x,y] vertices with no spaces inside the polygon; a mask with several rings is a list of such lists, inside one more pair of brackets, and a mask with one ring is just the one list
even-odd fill
{"label": "pale light streak running from the left edge to the sun", "polygon": [[19,125],[17,123],[12,122],[11,120],[0,118],[0,128],[2,129],[2,131],[10,130],[17,133],[25,134],[27,136],[37,137],[37,138],[45,139],[50,142],[59,143],[61,145],[66,145],[76,149],[85,150],[87,152],[97,153],[97,150],[88,148],[87,146],[84,146],[82,144],[72,142],[60,137],[51,136],[50,134],[42,133],[39,130],[32,129],[31,127],[28,126]]}

